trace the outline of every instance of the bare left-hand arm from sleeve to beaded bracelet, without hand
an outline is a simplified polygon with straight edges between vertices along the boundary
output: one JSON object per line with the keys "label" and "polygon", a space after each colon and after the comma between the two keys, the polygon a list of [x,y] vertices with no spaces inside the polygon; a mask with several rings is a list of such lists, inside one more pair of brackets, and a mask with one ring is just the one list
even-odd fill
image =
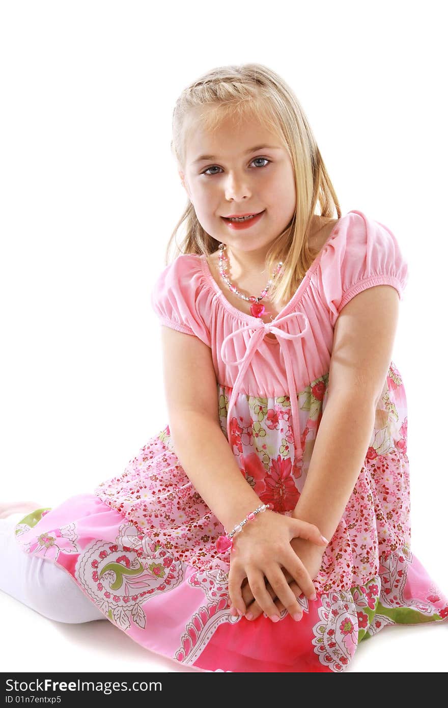
{"label": "bare left-hand arm from sleeve to beaded bracelet, without hand", "polygon": [[211,350],[196,336],[162,326],[168,422],[180,464],[226,531],[260,505],[218,419]]}

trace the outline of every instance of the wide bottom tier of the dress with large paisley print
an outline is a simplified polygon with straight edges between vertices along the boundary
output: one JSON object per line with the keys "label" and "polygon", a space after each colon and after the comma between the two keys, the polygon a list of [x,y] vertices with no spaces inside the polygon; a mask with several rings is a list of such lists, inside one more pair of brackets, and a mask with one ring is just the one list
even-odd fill
{"label": "wide bottom tier of the dress with large paisley print", "polygon": [[[149,444],[161,453],[159,437]],[[283,610],[273,623],[263,614],[252,621],[229,614],[224,562],[194,566],[173,553],[166,535],[161,542],[154,525],[138,525],[98,493],[26,515],[16,540],[67,571],[138,644],[203,671],[344,671],[357,644],[385,625],[448,619],[447,598],[406,545],[362,585],[319,591],[315,602],[302,597],[300,622]]]}

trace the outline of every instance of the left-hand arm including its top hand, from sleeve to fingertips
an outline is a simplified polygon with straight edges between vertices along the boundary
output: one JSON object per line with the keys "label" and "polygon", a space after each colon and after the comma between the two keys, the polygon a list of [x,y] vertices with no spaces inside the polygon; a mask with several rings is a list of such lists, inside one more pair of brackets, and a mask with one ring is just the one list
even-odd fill
{"label": "left-hand arm including its top hand, from sleeve to fingertips", "polygon": [[[219,424],[211,350],[196,336],[168,326],[162,326],[161,331],[163,379],[174,450],[197,492],[224,528],[231,530],[260,505],[260,498],[241,474]],[[277,615],[277,607],[265,588],[266,576],[287,610],[291,614],[297,612],[297,599],[282,566],[305,595],[314,593],[312,579],[290,544],[296,536],[320,546],[323,543],[315,525],[270,510],[258,515],[254,523],[248,523],[234,537],[239,553],[231,552],[231,559],[241,558],[233,573],[231,565],[229,573],[229,593],[235,607],[245,608],[241,582],[248,577],[260,607],[267,615]]]}

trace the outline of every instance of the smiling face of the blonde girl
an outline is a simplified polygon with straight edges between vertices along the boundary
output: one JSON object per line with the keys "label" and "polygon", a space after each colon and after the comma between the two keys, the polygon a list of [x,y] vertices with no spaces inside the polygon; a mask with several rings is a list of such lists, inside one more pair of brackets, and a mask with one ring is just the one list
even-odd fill
{"label": "smiling face of the blonde girl", "polygon": [[[294,171],[280,139],[256,119],[236,125],[226,118],[213,132],[196,122],[186,142],[179,174],[202,228],[235,254],[262,258],[296,207]],[[245,229],[222,218],[258,212]]]}

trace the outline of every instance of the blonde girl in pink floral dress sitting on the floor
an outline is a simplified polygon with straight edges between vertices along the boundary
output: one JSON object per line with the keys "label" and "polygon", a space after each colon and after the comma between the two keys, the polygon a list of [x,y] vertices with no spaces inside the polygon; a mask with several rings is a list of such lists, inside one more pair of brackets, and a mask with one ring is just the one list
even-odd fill
{"label": "blonde girl in pink floral dress sitting on the floor", "polygon": [[448,618],[410,551],[407,264],[384,224],[341,215],[267,67],[188,86],[172,146],[186,235],[151,296],[169,426],[91,492],[6,505],[0,587],[199,670],[344,671],[386,624]]}

